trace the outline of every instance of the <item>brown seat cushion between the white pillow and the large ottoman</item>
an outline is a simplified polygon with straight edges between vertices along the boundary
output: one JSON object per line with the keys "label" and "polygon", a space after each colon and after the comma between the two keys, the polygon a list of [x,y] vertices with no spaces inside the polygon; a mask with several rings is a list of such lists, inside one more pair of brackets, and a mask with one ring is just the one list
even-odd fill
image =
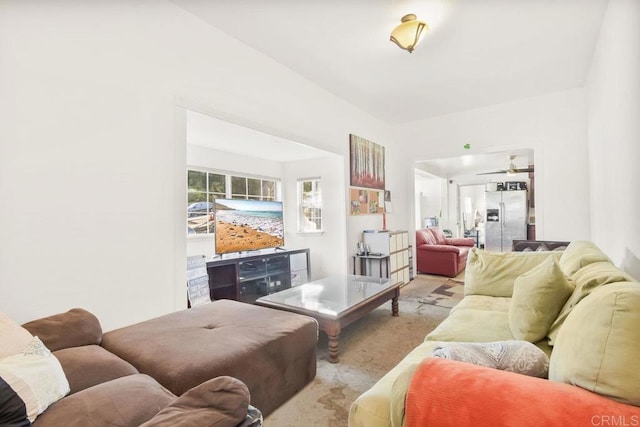
{"label": "brown seat cushion between the white pillow and the large ottoman", "polygon": [[96,384],[138,373],[129,362],[98,345],[63,348],[53,355],[62,365],[72,394]]}

